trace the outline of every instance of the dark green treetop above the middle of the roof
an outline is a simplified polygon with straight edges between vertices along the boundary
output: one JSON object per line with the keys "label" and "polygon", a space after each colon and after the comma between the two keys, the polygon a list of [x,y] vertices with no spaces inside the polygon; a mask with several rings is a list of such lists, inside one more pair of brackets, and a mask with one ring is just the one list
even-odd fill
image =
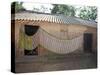
{"label": "dark green treetop above the middle of the roof", "polygon": [[64,14],[67,16],[75,16],[75,8],[68,5],[53,4],[54,8],[51,10],[53,14]]}

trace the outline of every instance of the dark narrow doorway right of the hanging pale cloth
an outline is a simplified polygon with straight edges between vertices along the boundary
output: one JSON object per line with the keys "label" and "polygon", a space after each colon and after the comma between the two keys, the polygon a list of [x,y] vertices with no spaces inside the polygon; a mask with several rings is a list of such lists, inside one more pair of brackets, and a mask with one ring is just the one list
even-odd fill
{"label": "dark narrow doorway right of the hanging pale cloth", "polygon": [[84,52],[92,52],[93,34],[84,34]]}

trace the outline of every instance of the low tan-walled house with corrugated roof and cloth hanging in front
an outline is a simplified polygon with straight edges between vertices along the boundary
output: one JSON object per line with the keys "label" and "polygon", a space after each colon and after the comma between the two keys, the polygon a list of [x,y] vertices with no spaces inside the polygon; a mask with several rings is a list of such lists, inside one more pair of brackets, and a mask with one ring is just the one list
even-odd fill
{"label": "low tan-walled house with corrugated roof and cloth hanging in front", "polygon": [[46,50],[67,54],[97,49],[97,23],[94,21],[24,11],[12,14],[12,26],[15,27],[16,57],[41,56],[48,54]]}

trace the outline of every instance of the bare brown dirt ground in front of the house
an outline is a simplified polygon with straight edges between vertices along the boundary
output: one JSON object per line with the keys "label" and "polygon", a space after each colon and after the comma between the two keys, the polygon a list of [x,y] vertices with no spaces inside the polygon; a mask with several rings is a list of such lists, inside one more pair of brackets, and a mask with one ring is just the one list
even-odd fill
{"label": "bare brown dirt ground in front of the house", "polygon": [[69,54],[57,57],[25,57],[16,60],[16,72],[44,72],[97,68],[97,54]]}

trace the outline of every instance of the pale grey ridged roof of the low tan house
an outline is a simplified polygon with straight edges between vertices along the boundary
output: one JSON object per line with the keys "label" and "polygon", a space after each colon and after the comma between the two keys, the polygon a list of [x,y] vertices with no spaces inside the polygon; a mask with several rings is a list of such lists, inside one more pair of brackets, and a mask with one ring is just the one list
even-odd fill
{"label": "pale grey ridged roof of the low tan house", "polygon": [[64,15],[51,15],[51,14],[22,12],[22,13],[16,13],[15,18],[13,19],[15,20],[38,20],[38,21],[48,21],[48,22],[54,22],[54,23],[79,24],[79,25],[97,27],[97,23],[94,21],[83,20],[77,17],[69,17],[69,16],[64,16]]}

